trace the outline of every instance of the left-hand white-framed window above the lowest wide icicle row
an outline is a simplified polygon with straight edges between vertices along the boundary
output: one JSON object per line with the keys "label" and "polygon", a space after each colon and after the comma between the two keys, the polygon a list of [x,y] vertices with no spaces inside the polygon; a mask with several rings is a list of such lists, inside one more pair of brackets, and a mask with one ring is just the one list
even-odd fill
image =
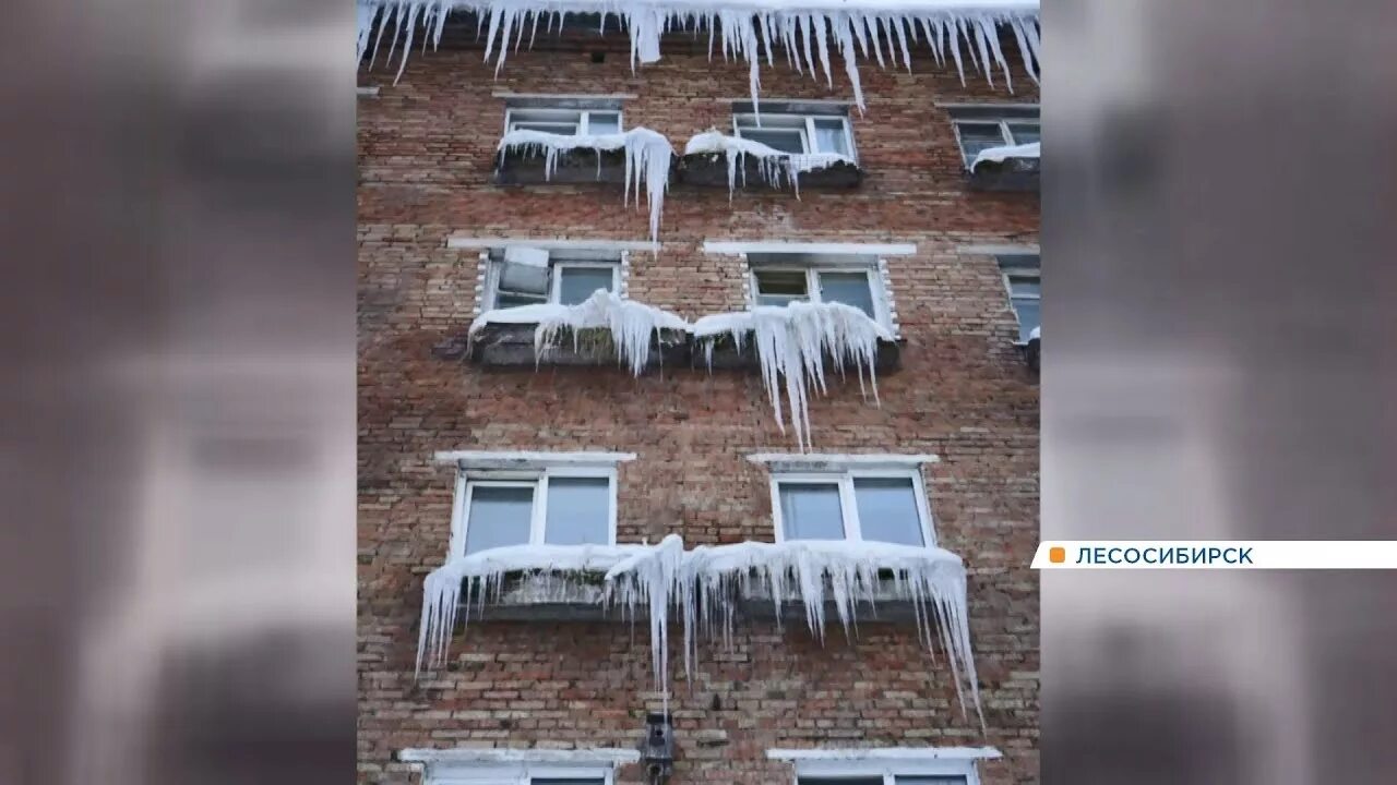
{"label": "left-hand white-framed window above the lowest wide icicle row", "polygon": [[462,553],[511,545],[610,545],[616,476],[610,469],[474,472],[457,486]]}

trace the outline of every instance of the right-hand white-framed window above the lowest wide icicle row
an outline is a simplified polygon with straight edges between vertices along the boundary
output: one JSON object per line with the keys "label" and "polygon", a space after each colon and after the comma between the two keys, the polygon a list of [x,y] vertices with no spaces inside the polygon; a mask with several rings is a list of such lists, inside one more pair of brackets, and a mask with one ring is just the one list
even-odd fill
{"label": "right-hand white-framed window above the lowest wide icicle row", "polygon": [[936,545],[916,471],[788,474],[771,478],[777,542],[848,539]]}

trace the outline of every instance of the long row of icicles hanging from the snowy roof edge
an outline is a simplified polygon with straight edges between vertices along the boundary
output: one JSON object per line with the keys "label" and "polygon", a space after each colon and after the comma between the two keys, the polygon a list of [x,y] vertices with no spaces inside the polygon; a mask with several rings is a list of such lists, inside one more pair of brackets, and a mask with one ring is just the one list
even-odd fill
{"label": "long row of icicles hanging from the snowy roof edge", "polygon": [[[541,22],[545,31],[562,28],[567,14],[602,14],[622,20],[630,35],[631,68],[636,63],[659,60],[659,38],[666,32],[708,32],[708,56],[712,45],[721,46],[724,59],[747,61],[753,102],[760,89],[759,64],[763,53],[768,66],[775,64],[775,45],[785,49],[787,61],[798,71],[809,70],[812,78],[824,75],[834,84],[830,64],[831,45],[844,64],[854,98],[863,109],[858,57],[873,57],[879,67],[891,63],[912,67],[911,45],[922,41],[939,64],[956,63],[965,81],[968,59],[993,85],[997,64],[1010,89],[1009,66],[999,46],[999,28],[1013,34],[1030,78],[1038,80],[1039,25],[1038,0],[359,0],[358,53],[377,59],[386,29],[393,29],[388,57],[401,39],[402,63],[407,63],[415,31],[433,46],[441,41],[446,18],[451,11],[474,13],[485,34],[485,60],[495,59],[499,73],[511,47],[524,41],[525,29],[532,45]],[[374,29],[377,34],[374,35]],[[370,39],[373,41],[370,46]],[[513,42],[511,42],[513,39]],[[813,42],[813,45],[812,45]],[[887,54],[884,56],[884,46]]]}

